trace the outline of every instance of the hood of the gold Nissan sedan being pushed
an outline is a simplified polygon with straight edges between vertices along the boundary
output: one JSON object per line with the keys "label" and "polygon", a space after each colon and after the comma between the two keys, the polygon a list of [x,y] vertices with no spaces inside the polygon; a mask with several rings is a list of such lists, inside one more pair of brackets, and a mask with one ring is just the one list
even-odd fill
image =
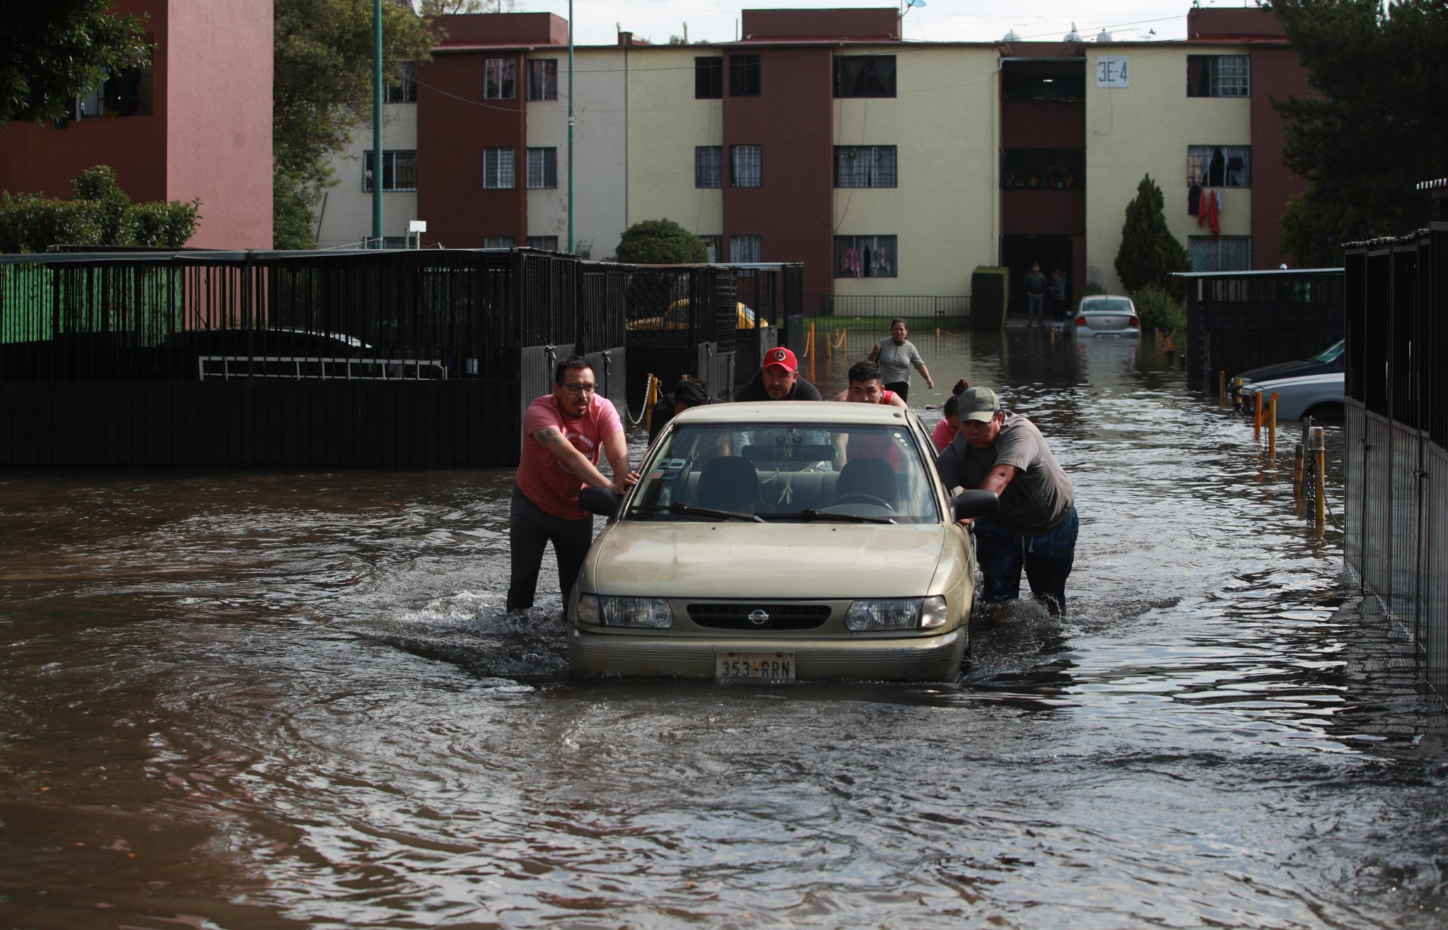
{"label": "hood of the gold Nissan sedan being pushed", "polygon": [[940,524],[623,521],[588,555],[599,594],[641,597],[919,597]]}

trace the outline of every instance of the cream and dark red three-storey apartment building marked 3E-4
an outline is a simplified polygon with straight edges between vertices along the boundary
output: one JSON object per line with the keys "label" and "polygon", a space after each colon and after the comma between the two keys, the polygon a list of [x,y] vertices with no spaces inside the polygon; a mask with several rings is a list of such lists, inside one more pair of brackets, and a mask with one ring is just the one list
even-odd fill
{"label": "cream and dark red three-storey apartment building marked 3E-4", "polygon": [[[442,17],[392,88],[388,244],[568,249],[568,33],[546,13]],[[1271,97],[1306,74],[1268,10],[1189,13],[1173,42],[901,42],[896,9],[743,10],[743,39],[573,51],[573,239],[613,255],[666,217],[720,262],[804,262],[807,299],[969,292],[1031,262],[1119,288],[1147,174],[1199,270],[1277,268],[1305,184]],[[321,244],[361,242],[371,133],[336,162]],[[1209,204],[1209,217],[1202,207]]]}

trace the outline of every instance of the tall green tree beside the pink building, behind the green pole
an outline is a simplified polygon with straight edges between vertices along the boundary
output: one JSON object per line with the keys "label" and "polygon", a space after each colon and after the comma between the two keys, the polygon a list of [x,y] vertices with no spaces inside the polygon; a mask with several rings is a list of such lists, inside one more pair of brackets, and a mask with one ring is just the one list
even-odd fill
{"label": "tall green tree beside the pink building, behind the green pole", "polygon": [[[272,77],[272,239],[278,249],[317,244],[316,208],[336,184],[327,153],[372,119],[371,0],[275,0]],[[410,0],[382,3],[385,78],[426,61],[434,36]]]}

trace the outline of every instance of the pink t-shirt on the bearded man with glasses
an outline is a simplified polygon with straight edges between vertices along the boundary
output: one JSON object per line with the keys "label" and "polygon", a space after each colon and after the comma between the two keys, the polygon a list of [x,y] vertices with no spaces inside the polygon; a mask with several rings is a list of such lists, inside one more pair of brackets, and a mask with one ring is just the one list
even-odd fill
{"label": "pink t-shirt on the bearded man with glasses", "polygon": [[588,412],[579,419],[573,419],[559,412],[557,401],[552,393],[544,393],[529,404],[529,409],[523,415],[523,458],[518,461],[518,487],[523,489],[529,500],[539,505],[539,509],[546,513],[563,519],[589,516],[586,511],[578,508],[578,492],[584,489],[584,479],[565,469],[563,463],[533,437],[534,432],[546,427],[562,432],[573,444],[573,448],[584,453],[584,458],[597,466],[604,440],[624,431],[618,411],[614,409],[613,401],[608,398],[594,395]]}

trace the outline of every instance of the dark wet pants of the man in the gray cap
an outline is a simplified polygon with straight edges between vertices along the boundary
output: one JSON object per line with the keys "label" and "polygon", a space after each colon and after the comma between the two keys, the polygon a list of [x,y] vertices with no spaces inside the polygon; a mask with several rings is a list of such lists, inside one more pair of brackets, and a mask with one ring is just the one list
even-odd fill
{"label": "dark wet pants of the man in the gray cap", "polygon": [[1051,613],[1066,613],[1066,577],[1076,561],[1076,535],[1080,521],[1072,508],[1056,529],[1037,537],[1022,537],[1002,529],[989,518],[976,521],[976,561],[985,576],[985,603],[1002,603],[1021,596],[1021,568],[1031,583],[1031,594]]}

